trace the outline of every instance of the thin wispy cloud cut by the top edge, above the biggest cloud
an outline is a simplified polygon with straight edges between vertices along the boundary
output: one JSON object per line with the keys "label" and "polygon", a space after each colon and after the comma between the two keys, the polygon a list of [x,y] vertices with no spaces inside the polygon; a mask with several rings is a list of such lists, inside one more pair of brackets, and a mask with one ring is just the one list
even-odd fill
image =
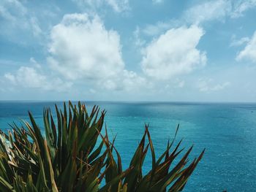
{"label": "thin wispy cloud cut by the top edge, above the biggest cloud", "polygon": [[107,4],[116,12],[123,12],[129,9],[129,0],[73,0],[82,7],[97,9]]}

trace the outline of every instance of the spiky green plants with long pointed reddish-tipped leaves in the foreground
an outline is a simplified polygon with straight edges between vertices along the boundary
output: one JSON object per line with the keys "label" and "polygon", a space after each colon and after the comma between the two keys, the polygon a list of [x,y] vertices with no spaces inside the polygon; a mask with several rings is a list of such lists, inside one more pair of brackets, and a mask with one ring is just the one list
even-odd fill
{"label": "spiky green plants with long pointed reddish-tipped leaves in the foreground", "polygon": [[[190,147],[170,169],[184,150],[179,150],[181,142],[173,147],[174,137],[156,158],[146,126],[129,168],[123,170],[115,139],[110,141],[107,129],[101,134],[105,110],[94,106],[89,113],[84,104],[69,101],[63,111],[56,106],[56,116],[44,110],[45,135],[30,112],[31,123],[14,123],[12,133],[1,132],[0,191],[181,191],[204,153],[187,165]],[[152,166],[143,175],[148,149]]]}

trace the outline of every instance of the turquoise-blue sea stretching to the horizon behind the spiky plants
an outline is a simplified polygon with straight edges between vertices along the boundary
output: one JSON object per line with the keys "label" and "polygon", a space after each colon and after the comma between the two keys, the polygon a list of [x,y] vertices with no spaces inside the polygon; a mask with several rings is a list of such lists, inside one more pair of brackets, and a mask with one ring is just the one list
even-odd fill
{"label": "turquoise-blue sea stretching to the horizon behind the spiky plants", "polygon": [[[30,110],[39,126],[43,107],[56,102],[0,101],[0,128],[8,123],[28,120]],[[57,102],[59,106],[62,102]],[[86,102],[86,107],[99,105],[107,110],[105,123],[110,136],[116,137],[124,169],[140,141],[145,123],[157,154],[162,153],[167,139],[172,139],[180,124],[177,142],[183,147],[194,144],[189,157],[195,158],[203,148],[206,153],[190,177],[184,191],[256,191],[256,104],[203,104],[167,102]],[[151,166],[146,158],[144,171]]]}

